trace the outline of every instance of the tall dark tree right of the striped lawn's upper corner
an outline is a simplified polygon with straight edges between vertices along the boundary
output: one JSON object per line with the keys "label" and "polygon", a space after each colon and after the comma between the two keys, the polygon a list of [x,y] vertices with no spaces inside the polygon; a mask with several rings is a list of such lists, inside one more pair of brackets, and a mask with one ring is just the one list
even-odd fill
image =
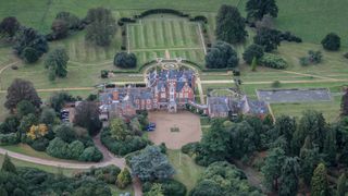
{"label": "tall dark tree right of the striped lawn's upper corner", "polygon": [[246,40],[246,23],[236,7],[223,4],[216,16],[215,35],[217,40],[237,44]]}

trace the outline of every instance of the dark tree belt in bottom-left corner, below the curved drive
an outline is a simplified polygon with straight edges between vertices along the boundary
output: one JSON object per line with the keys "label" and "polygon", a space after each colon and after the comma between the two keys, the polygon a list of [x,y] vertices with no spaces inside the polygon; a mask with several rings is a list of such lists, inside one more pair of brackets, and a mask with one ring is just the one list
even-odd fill
{"label": "dark tree belt in bottom-left corner, below the curved drive", "polygon": [[0,171],[0,195],[111,196],[110,187],[96,177],[66,177],[34,168],[16,168],[5,155]]}

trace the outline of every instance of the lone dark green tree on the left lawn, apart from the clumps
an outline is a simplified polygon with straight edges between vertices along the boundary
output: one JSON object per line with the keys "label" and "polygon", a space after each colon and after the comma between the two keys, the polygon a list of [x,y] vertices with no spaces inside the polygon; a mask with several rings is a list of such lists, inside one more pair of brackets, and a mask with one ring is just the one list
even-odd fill
{"label": "lone dark green tree on the left lawn, apart from the clumps", "polygon": [[69,61],[69,56],[64,48],[57,48],[48,53],[45,60],[45,68],[49,70],[50,81],[52,79],[54,81],[55,76],[66,77],[67,61]]}

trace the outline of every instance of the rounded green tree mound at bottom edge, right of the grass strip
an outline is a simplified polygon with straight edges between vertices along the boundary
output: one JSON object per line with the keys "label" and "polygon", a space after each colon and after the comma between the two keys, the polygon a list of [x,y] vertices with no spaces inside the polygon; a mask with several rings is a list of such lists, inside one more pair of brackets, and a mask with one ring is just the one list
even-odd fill
{"label": "rounded green tree mound at bottom edge, right of the grass strip", "polygon": [[262,195],[251,187],[244,172],[228,162],[210,164],[198,180],[190,196]]}

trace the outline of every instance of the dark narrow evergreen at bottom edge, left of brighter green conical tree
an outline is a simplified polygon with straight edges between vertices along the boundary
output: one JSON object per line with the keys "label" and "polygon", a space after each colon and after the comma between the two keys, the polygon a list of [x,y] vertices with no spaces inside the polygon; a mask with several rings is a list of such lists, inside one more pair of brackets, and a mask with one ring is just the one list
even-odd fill
{"label": "dark narrow evergreen at bottom edge, left of brighter green conical tree", "polygon": [[279,196],[296,196],[299,181],[299,160],[297,157],[288,157],[282,167],[279,177]]}

